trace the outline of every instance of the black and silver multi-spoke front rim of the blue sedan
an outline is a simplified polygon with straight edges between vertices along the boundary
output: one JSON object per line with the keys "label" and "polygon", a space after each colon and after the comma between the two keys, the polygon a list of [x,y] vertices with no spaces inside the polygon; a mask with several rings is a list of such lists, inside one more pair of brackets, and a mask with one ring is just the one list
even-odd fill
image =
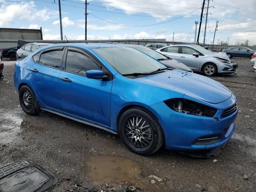
{"label": "black and silver multi-spoke front rim of the blue sedan", "polygon": [[132,116],[126,120],[125,127],[125,136],[135,148],[144,149],[152,144],[153,131],[144,118]]}

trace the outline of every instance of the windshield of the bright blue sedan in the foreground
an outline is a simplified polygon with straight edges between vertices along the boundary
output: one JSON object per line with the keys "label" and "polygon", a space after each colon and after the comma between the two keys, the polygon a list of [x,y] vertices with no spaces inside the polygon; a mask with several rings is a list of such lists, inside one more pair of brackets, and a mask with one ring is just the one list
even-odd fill
{"label": "windshield of the bright blue sedan in the foreground", "polygon": [[94,51],[120,74],[149,73],[159,68],[166,68],[160,62],[134,48],[108,47],[95,48]]}

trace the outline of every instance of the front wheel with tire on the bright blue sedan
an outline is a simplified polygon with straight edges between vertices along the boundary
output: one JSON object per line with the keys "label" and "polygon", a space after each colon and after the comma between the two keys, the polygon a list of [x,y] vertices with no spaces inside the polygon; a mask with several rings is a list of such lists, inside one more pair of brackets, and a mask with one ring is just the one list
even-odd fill
{"label": "front wheel with tire on the bright blue sedan", "polygon": [[124,144],[141,155],[155,153],[163,144],[164,134],[158,120],[148,110],[134,107],[122,114],[118,132]]}

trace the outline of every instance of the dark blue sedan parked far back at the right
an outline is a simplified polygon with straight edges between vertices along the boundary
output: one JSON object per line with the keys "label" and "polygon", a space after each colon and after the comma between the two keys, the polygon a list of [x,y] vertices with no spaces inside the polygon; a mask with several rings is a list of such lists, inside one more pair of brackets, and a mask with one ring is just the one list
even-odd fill
{"label": "dark blue sedan parked far back at the right", "polygon": [[222,52],[225,52],[227,54],[228,58],[248,57],[248,58],[252,59],[255,51],[253,51],[247,47],[231,47],[231,48],[222,50]]}

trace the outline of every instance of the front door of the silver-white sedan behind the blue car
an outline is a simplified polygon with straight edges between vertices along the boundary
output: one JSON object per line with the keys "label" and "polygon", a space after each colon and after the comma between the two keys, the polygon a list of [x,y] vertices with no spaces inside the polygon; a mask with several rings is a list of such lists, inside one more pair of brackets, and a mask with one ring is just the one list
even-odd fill
{"label": "front door of the silver-white sedan behind the blue car", "polygon": [[[192,70],[200,70],[202,54],[191,47],[180,46],[180,48],[180,62]],[[194,53],[198,53],[199,56],[193,56]]]}

